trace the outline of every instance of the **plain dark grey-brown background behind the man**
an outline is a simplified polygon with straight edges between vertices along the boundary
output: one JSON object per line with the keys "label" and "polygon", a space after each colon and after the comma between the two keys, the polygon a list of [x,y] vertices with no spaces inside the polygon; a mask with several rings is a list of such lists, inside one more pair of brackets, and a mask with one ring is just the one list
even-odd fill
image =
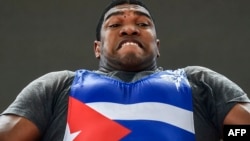
{"label": "plain dark grey-brown background behind the man", "polygon": [[[0,0],[0,112],[30,81],[96,69],[95,27],[109,0]],[[249,0],[145,0],[161,40],[158,65],[201,65],[250,94]]]}

